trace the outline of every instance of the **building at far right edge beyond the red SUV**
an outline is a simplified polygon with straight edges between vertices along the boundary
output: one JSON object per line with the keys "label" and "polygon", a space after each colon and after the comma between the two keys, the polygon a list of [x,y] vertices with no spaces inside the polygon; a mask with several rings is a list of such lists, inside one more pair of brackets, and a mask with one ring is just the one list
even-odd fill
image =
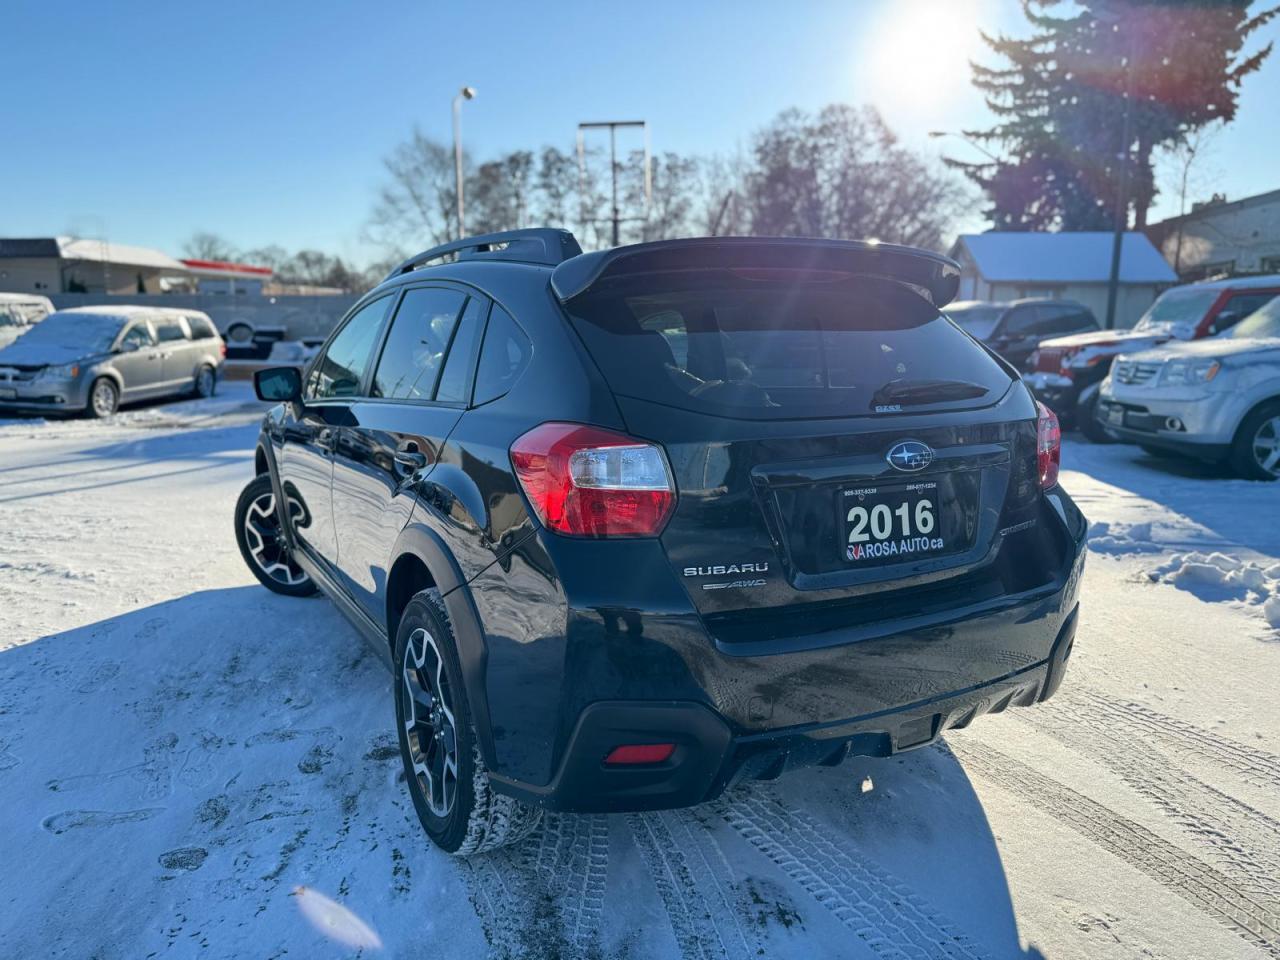
{"label": "building at far right edge beyond the red SUV", "polygon": [[1231,202],[1215,196],[1152,224],[1147,236],[1183,280],[1280,274],[1280,189]]}

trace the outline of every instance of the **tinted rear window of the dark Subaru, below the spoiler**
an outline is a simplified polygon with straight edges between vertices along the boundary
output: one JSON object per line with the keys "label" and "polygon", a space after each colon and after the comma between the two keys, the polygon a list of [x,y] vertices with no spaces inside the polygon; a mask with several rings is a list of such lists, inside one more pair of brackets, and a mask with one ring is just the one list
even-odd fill
{"label": "tinted rear window of the dark Subaru, below the spoiler", "polygon": [[[829,273],[690,270],[603,280],[567,310],[618,394],[751,420],[860,416],[895,384],[1011,378],[920,293]],[[764,279],[758,279],[764,278]]]}

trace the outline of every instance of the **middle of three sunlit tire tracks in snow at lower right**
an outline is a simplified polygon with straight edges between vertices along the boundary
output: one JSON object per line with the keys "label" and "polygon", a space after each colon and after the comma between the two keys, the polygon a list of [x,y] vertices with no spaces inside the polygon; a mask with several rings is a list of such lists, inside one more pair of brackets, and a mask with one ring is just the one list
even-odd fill
{"label": "middle of three sunlit tire tracks in snow at lower right", "polygon": [[1203,846],[1240,890],[1280,914],[1280,822],[1179,769],[1142,741],[1135,749],[1135,741],[1070,714],[1027,710],[1018,718],[1110,768]]}

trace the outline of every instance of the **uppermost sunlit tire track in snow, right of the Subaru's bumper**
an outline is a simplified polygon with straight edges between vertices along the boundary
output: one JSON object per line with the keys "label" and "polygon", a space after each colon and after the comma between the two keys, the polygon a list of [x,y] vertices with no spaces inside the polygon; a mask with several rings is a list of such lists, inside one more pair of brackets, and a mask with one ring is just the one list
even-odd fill
{"label": "uppermost sunlit tire track in snow, right of the Subaru's bumper", "polygon": [[1228,769],[1256,787],[1280,790],[1280,756],[1219,736],[1143,704],[1114,700],[1084,689],[1055,698],[1038,709],[1074,717],[1094,730],[1128,731],[1134,741],[1156,740],[1172,753]]}

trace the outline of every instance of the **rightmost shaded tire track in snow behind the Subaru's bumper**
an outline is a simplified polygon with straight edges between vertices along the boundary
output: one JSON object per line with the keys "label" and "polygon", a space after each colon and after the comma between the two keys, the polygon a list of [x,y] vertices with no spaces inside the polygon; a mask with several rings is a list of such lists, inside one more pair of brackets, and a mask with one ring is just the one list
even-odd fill
{"label": "rightmost shaded tire track in snow behind the Subaru's bumper", "polygon": [[773,799],[739,795],[719,813],[878,956],[975,960],[978,946],[951,928],[910,887],[865,858],[855,859],[808,814]]}

